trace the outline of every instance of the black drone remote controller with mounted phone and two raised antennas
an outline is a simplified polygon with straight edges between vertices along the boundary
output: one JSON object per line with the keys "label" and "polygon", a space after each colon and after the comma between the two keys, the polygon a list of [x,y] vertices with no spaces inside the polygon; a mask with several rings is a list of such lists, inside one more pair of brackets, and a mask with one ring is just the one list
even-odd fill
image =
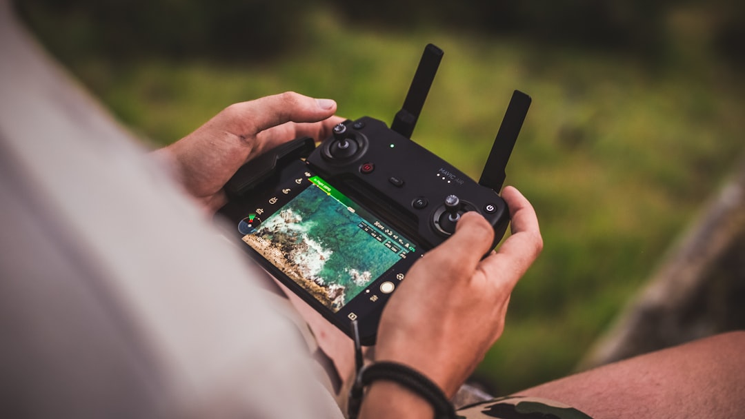
{"label": "black drone remote controller with mounted phone and two raised antennas", "polygon": [[[410,139],[443,51],[427,45],[391,127],[345,121],[315,147],[298,138],[241,167],[218,215],[248,254],[352,336],[375,343],[383,307],[410,266],[455,231],[468,211],[510,222],[498,195],[530,97],[515,91],[479,182]],[[426,298],[422,295],[422,298]]]}

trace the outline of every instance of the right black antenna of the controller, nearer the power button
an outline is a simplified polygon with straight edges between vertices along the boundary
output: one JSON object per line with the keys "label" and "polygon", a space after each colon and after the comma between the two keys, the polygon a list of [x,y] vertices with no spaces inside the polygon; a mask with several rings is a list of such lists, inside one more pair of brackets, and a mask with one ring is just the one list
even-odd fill
{"label": "right black antenna of the controller, nearer the power button", "polygon": [[504,169],[507,167],[507,161],[510,160],[510,154],[515,147],[531,101],[530,96],[523,92],[519,90],[513,92],[510,104],[507,105],[507,112],[504,112],[502,124],[497,131],[497,137],[494,139],[492,151],[486,159],[484,172],[481,173],[481,179],[478,181],[479,185],[496,192],[501,190],[506,177]]}

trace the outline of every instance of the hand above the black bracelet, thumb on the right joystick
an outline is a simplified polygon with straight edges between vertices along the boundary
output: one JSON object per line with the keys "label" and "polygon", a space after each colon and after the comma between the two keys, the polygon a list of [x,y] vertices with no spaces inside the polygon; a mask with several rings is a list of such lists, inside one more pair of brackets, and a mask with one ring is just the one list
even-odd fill
{"label": "hand above the black bracelet, thumb on the right joystick", "polygon": [[415,368],[448,397],[501,336],[510,292],[542,250],[530,202],[512,187],[502,197],[512,235],[498,252],[482,259],[494,232],[484,217],[463,214],[455,234],[410,269],[378,328],[375,360]]}

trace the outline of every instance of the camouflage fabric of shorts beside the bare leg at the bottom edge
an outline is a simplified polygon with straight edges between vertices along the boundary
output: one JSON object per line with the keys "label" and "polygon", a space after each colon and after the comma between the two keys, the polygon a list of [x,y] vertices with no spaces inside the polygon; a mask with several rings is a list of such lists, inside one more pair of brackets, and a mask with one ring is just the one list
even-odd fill
{"label": "camouflage fabric of shorts beside the bare leg at the bottom edge", "polygon": [[538,397],[500,397],[464,406],[456,412],[463,419],[592,419],[577,409]]}

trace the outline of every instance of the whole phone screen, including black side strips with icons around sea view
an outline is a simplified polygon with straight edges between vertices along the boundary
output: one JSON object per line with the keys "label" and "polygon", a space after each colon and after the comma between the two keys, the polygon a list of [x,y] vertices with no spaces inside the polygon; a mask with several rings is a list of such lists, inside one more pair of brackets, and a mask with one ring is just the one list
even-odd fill
{"label": "whole phone screen, including black side strips with icons around sea view", "polygon": [[[420,252],[329,182],[308,175],[269,196],[272,209],[257,208],[238,230],[248,246],[314,299],[333,313],[346,307],[351,319],[393,292]],[[355,298],[359,307],[348,307]]]}

